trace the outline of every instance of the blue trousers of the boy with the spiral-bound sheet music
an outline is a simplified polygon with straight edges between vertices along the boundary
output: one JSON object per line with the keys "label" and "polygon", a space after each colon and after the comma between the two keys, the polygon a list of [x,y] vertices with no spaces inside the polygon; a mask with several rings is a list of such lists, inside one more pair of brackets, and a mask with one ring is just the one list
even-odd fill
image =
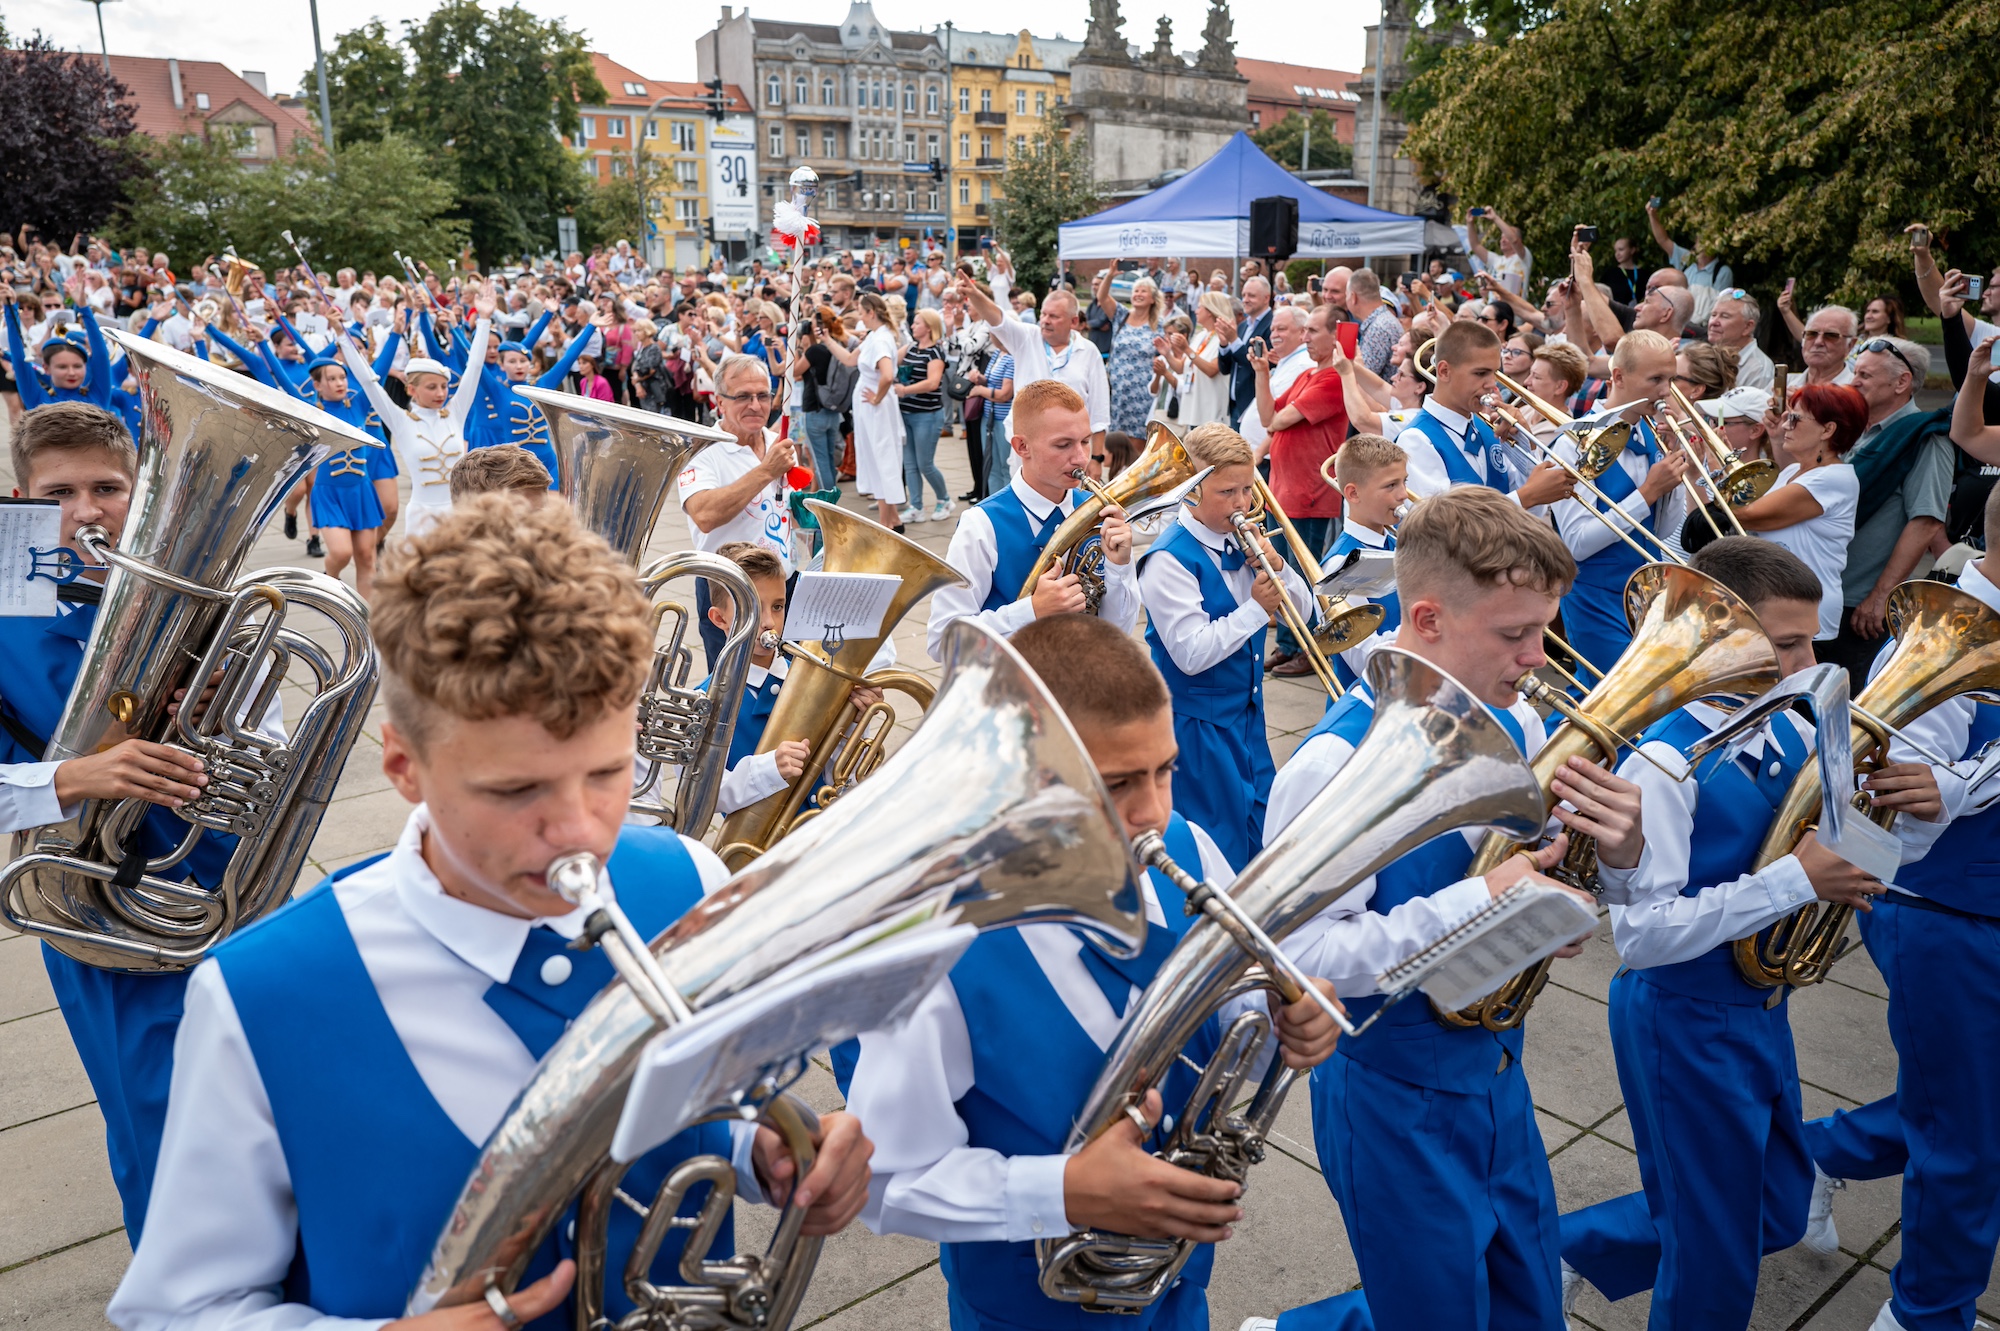
{"label": "blue trousers of the boy with the spiral-bound sheet music", "polygon": [[1556,1185],[1520,1063],[1480,1093],[1340,1055],[1312,1141],[1384,1331],[1562,1331]]}

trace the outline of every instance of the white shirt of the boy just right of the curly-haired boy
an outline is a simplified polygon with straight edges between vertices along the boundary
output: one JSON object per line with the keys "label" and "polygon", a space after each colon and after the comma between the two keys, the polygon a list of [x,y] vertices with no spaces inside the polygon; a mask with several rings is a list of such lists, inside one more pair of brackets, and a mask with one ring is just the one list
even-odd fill
{"label": "white shirt of the boy just right of the curly-haired boy", "polygon": [[[1234,881],[1208,833],[1192,823],[1190,829],[1202,851],[1202,877],[1216,885]],[[1166,923],[1152,875],[1140,875],[1140,883],[1146,919]],[[1082,939],[1064,925],[1022,925],[1020,937],[1076,1023],[1108,1051],[1124,1019],[1084,965]],[[1136,997],[1134,985],[1128,1013]],[[1238,999],[1224,1007],[1222,1021],[1262,1003],[1262,995]],[[956,1105],[972,1089],[972,1037],[950,981],[934,987],[904,1027],[870,1031],[860,1045],[848,1111],[876,1143],[862,1211],[870,1229],[938,1243],[1024,1243],[1070,1231],[1062,1195],[1068,1155],[1002,1155],[968,1145]]]}

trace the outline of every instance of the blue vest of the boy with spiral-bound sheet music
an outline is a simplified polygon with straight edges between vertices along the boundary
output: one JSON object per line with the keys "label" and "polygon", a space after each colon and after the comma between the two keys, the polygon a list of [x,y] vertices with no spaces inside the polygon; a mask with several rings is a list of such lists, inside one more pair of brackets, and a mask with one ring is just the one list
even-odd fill
{"label": "blue vest of the boy with spiral-bound sheet music", "polygon": [[[1500,709],[1494,709],[1494,715],[1514,735],[1514,745],[1524,747],[1516,719]],[[1374,699],[1362,689],[1350,689],[1326,709],[1306,739],[1338,735],[1360,747],[1372,719]],[[1368,899],[1368,909],[1388,915],[1404,901],[1450,887],[1466,875],[1468,867],[1472,867],[1472,843],[1460,831],[1446,831],[1376,873],[1376,889]],[[1370,993],[1344,1001],[1348,1015],[1362,1021],[1382,1005],[1382,995]],[[1498,1033],[1482,1027],[1446,1027],[1438,1023],[1422,995],[1412,995],[1390,1007],[1366,1035],[1342,1039],[1334,1051],[1412,1085],[1484,1093],[1498,1073],[1520,1067],[1520,1031],[1518,1025]]]}

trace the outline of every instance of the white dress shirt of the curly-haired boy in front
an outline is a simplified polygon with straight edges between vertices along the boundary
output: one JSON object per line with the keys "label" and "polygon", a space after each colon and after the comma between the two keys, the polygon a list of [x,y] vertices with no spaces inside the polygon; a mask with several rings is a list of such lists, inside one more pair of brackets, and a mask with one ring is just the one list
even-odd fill
{"label": "white dress shirt of the curly-haired boy in front", "polygon": [[[534,1077],[536,1057],[486,989],[506,981],[528,931],[576,937],[584,911],[556,919],[502,915],[444,893],[424,863],[430,813],[418,805],[396,849],[332,891],[354,933],[390,1025],[424,1087],[466,1135],[486,1141]],[[712,891],[728,871],[682,837]],[[738,1187],[760,1199],[750,1167],[754,1129],[734,1133]],[[188,981],[174,1041],[174,1081],[146,1237],[108,1317],[124,1331],[360,1331],[382,1319],[322,1317],[284,1303],[298,1243],[298,1203],[270,1099],[216,961]]]}

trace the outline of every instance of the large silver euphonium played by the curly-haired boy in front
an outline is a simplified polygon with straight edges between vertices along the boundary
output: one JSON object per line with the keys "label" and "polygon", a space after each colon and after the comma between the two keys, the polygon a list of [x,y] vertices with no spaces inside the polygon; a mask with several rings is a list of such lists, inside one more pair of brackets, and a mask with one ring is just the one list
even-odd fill
{"label": "large silver euphonium played by the curly-haired boy in front", "polygon": [[[1074,923],[1120,955],[1136,951],[1146,929],[1140,869],[1090,753],[996,634],[956,624],[944,650],[944,681],[924,723],[874,779],[652,939],[658,975],[684,1007],[700,1013],[804,957],[852,955],[910,929],[958,923]],[[808,1041],[800,1055],[852,1035],[818,1029],[814,1013],[794,1015]],[[660,1029],[662,1019],[624,981],[590,1001],[486,1141],[410,1299],[412,1313],[478,1299],[488,1283],[512,1289],[578,1197],[578,1267],[602,1271],[606,1213],[624,1205],[614,1201],[624,1169],[608,1149],[640,1051]],[[782,1105],[786,1079],[774,1069],[738,1087],[742,1103]],[[716,1105],[714,1117],[724,1115],[738,1117],[738,1107]],[[782,1119],[776,1125],[786,1131]],[[676,1169],[652,1207],[670,1213],[676,1177],[696,1171],[726,1207],[732,1171],[716,1157]],[[796,1239],[796,1221],[780,1219],[788,1247],[776,1257],[704,1261],[706,1245],[690,1243],[680,1267],[686,1283],[658,1289],[638,1277],[658,1251],[660,1229],[646,1227],[626,1269],[624,1287],[638,1305],[638,1321],[620,1323],[626,1331],[782,1331],[820,1247]],[[580,1275],[576,1289],[576,1325],[600,1325],[600,1281]]]}

